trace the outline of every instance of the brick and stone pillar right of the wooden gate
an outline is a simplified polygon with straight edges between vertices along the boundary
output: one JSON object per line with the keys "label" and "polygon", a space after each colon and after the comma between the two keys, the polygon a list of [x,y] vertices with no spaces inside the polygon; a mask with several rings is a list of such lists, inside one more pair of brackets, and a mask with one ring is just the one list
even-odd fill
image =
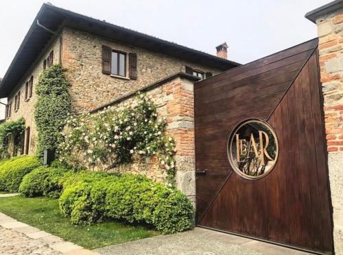
{"label": "brick and stone pillar right of the wooden gate", "polygon": [[335,254],[343,254],[343,8],[316,19]]}

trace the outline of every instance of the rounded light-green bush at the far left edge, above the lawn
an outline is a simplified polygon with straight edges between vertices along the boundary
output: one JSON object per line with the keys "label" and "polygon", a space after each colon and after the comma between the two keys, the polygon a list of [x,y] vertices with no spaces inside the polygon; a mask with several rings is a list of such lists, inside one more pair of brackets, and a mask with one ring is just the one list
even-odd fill
{"label": "rounded light-green bush at the far left edge, above the lawn", "polygon": [[0,190],[16,192],[23,177],[39,167],[36,157],[21,156],[5,161],[0,165]]}

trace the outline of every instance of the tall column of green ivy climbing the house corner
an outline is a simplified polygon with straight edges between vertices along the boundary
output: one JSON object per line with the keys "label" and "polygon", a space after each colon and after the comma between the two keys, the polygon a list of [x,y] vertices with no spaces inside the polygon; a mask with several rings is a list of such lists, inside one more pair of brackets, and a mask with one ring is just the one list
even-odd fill
{"label": "tall column of green ivy climbing the house corner", "polygon": [[37,156],[43,159],[44,150],[54,150],[60,132],[71,111],[69,83],[61,65],[44,70],[38,80],[38,96],[34,111],[38,131]]}

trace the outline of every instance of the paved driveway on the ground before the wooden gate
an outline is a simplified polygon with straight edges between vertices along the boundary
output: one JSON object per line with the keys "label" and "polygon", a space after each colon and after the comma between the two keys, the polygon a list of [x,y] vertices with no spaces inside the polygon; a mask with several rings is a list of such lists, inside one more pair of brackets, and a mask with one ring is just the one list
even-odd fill
{"label": "paved driveway on the ground before the wooden gate", "polygon": [[195,228],[178,234],[160,235],[95,250],[99,254],[287,254],[304,255],[278,245]]}

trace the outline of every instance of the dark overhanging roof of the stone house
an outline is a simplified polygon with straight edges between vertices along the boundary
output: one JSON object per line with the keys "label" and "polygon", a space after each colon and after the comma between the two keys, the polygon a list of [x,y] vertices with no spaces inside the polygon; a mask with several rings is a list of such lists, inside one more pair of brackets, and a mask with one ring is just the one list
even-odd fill
{"label": "dark overhanging roof of the stone house", "polygon": [[[41,25],[47,27],[47,29],[44,29]],[[161,40],[145,33],[139,33],[138,31],[107,23],[106,21],[99,21],[95,18],[64,10],[50,3],[43,3],[0,83],[0,98],[8,96],[12,88],[21,81],[32,66],[38,55],[42,53],[44,47],[56,37],[51,31],[59,32],[64,26],[82,29],[83,31],[89,31],[106,38],[112,38],[204,66],[211,66],[219,70],[228,70],[240,65],[236,62],[202,51],[196,51],[174,42]]]}

